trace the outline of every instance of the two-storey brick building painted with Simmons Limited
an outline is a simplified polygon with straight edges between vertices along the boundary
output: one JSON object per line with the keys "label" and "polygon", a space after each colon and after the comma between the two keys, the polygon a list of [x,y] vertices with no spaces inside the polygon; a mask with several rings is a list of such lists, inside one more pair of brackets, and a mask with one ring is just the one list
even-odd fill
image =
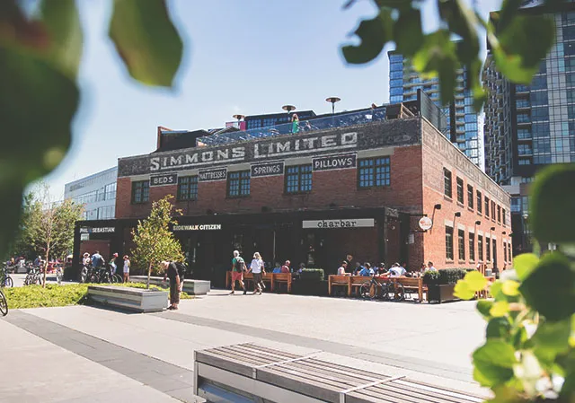
{"label": "two-storey brick building painted with Simmons Limited", "polygon": [[128,253],[137,219],[171,194],[195,276],[216,282],[233,250],[326,273],[347,253],[410,269],[509,265],[509,195],[421,116],[429,104],[421,95],[381,120],[121,158],[117,219],[77,223],[75,256],[93,241]]}

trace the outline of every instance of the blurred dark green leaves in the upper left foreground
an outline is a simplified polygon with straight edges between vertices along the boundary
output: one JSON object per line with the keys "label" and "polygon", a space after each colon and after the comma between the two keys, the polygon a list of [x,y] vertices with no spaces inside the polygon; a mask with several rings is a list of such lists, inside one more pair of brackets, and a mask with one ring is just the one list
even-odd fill
{"label": "blurred dark green leaves in the upper left foreground", "polygon": [[[24,188],[66,156],[80,100],[75,0],[32,4],[0,0],[0,256],[18,229]],[[113,0],[109,36],[135,80],[173,87],[183,43],[165,0]]]}

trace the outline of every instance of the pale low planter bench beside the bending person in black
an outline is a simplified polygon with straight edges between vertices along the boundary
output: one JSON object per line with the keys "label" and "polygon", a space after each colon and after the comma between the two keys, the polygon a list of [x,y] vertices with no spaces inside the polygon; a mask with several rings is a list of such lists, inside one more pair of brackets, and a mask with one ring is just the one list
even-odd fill
{"label": "pale low planter bench beside the bending person in black", "polygon": [[137,312],[161,312],[168,306],[167,291],[113,285],[90,285],[88,298],[94,302]]}

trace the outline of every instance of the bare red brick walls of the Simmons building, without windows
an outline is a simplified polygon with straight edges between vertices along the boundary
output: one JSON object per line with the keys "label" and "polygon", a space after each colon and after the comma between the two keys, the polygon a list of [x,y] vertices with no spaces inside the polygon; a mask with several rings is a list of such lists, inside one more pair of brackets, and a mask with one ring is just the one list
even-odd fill
{"label": "bare red brick walls of the Simmons building, without windows", "polygon": [[[424,118],[404,119],[409,126],[403,129],[419,132],[417,144],[388,145],[374,147],[373,149],[359,149],[357,158],[374,156],[389,156],[390,158],[390,186],[385,188],[358,188],[358,169],[344,169],[337,171],[314,171],[312,191],[305,195],[286,195],[284,175],[262,178],[252,178],[250,196],[240,198],[226,197],[226,180],[200,181],[198,184],[198,199],[194,201],[178,201],[176,207],[181,209],[184,216],[205,216],[222,214],[263,214],[262,212],[297,212],[301,210],[332,210],[333,218],[337,218],[338,209],[357,209],[360,207],[389,207],[397,209],[400,214],[407,216],[407,227],[400,221],[386,223],[386,239],[378,238],[380,232],[376,229],[364,230],[337,230],[341,231],[337,250],[332,253],[345,256],[345,250],[354,250],[361,260],[376,262],[377,244],[385,241],[386,263],[393,263],[401,256],[407,258],[411,269],[420,267],[422,262],[433,261],[438,268],[444,267],[475,267],[479,261],[478,236],[482,236],[483,260],[486,260],[486,238],[493,240],[497,249],[498,267],[504,264],[509,266],[507,243],[510,242],[509,195],[492,182],[482,171],[473,165],[464,154],[456,149],[445,136],[431,126]],[[399,123],[398,123],[399,122]],[[416,124],[414,124],[414,122]],[[402,121],[396,121],[391,129],[402,130]],[[407,125],[407,123],[406,123]],[[390,129],[390,130],[391,130]],[[311,163],[311,156],[307,160],[298,158],[292,161],[285,158],[286,166],[299,164],[302,160]],[[307,162],[309,161],[309,162]],[[236,164],[239,166],[239,164]],[[229,171],[238,171],[230,163]],[[249,170],[249,165],[243,163],[241,170]],[[445,196],[444,169],[452,175],[452,197]],[[182,176],[194,173],[180,173]],[[118,179],[116,200],[117,218],[141,218],[149,213],[151,203],[132,204],[132,181],[146,180],[149,175],[124,176]],[[457,179],[463,180],[464,204],[457,202]],[[473,187],[473,208],[468,206],[467,185]],[[501,219],[487,219],[483,213],[478,214],[475,192],[479,190],[482,197],[489,197],[500,206]],[[158,200],[165,195],[177,195],[177,185],[152,187],[149,190],[149,200]],[[441,209],[435,209],[435,205]],[[482,206],[483,210],[484,206]],[[506,224],[503,223],[503,210],[505,210]],[[455,214],[461,213],[460,217]],[[428,232],[420,232],[418,220],[421,215],[433,218],[434,225]],[[476,221],[481,224],[476,225]],[[294,223],[300,225],[301,223]],[[403,225],[403,229],[400,226]],[[446,227],[453,228],[453,256],[447,258]],[[491,228],[495,228],[491,230]],[[464,259],[459,259],[458,231],[464,231]],[[356,232],[354,232],[356,231]],[[355,235],[354,235],[355,233]],[[469,234],[473,233],[474,258],[470,258]],[[336,236],[336,235],[334,235]],[[330,237],[332,237],[330,235]],[[503,244],[506,250],[504,252]],[[492,246],[491,246],[492,248]],[[401,251],[403,250],[404,253]],[[492,254],[491,254],[492,255]],[[493,257],[491,256],[491,261]],[[491,267],[491,265],[490,265]]]}

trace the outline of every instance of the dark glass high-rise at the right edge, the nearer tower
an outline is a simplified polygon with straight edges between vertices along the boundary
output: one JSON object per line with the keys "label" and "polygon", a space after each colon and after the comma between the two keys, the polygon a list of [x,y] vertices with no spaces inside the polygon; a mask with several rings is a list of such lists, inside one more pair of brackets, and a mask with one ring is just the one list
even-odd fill
{"label": "dark glass high-rise at the right edge, the nearer tower", "polygon": [[[522,13],[543,13],[537,2],[524,2]],[[514,249],[530,250],[529,183],[544,165],[575,162],[575,3],[559,4],[555,43],[530,85],[510,83],[488,52],[483,81],[485,171],[511,194]]]}

